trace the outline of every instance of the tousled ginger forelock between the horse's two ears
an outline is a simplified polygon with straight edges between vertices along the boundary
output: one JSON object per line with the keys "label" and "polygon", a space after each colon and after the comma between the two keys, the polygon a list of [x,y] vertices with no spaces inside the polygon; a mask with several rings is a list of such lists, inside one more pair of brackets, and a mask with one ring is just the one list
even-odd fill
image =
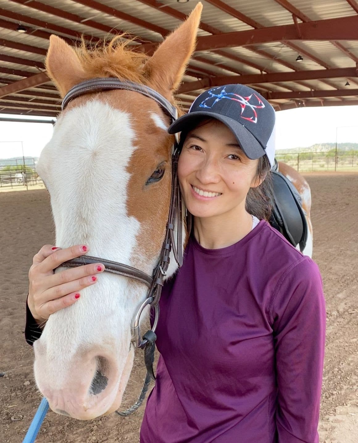
{"label": "tousled ginger forelock between the horse's two ears", "polygon": [[121,80],[148,85],[149,72],[145,68],[148,55],[133,51],[124,40],[125,34],[116,35],[101,46],[88,47],[82,43],[76,48],[78,58],[85,71],[86,80],[96,77],[117,77]]}

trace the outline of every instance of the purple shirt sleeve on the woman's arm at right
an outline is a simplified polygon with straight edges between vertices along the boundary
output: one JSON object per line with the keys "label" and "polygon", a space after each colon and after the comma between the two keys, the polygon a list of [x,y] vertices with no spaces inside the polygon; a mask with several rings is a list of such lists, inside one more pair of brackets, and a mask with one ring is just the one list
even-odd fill
{"label": "purple shirt sleeve on the woman's arm at right", "polygon": [[286,270],[271,305],[278,443],[319,443],[326,309],[313,260],[304,256]]}

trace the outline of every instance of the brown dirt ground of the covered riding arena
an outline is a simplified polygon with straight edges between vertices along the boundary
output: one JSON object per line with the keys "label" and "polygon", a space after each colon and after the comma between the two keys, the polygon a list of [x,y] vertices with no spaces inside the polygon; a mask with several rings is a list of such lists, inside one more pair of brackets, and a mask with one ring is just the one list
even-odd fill
{"label": "brown dirt ground of the covered riding arena", "polygon": [[[314,256],[327,302],[321,443],[358,442],[358,173],[306,175],[312,190]],[[32,348],[23,339],[27,272],[32,256],[53,242],[46,190],[0,192],[0,441],[21,442],[40,396],[32,375]],[[138,395],[141,354],[127,394]],[[90,422],[48,412],[38,443],[138,442],[143,406],[134,416]],[[153,442],[156,443],[156,442]],[[253,442],[242,442],[253,443]]]}

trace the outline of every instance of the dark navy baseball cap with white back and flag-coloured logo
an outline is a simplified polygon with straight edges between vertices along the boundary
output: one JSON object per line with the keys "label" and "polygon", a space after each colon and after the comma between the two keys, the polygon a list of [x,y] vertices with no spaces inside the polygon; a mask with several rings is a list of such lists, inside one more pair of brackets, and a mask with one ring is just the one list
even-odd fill
{"label": "dark navy baseball cap with white back and flag-coloured logo", "polygon": [[224,85],[200,94],[189,112],[175,120],[169,134],[185,130],[202,117],[214,118],[233,132],[249,159],[267,155],[275,160],[275,110],[260,93],[246,85]]}

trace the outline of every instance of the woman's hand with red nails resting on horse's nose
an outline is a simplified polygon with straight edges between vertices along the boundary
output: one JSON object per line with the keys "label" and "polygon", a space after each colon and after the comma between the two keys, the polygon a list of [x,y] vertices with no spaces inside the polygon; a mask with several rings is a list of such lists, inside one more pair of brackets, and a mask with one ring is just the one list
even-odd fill
{"label": "woman's hand with red nails resting on horse's nose", "polygon": [[70,306],[80,298],[81,289],[96,284],[96,274],[103,272],[101,263],[86,264],[54,273],[64,261],[86,254],[87,246],[60,249],[43,246],[34,256],[29,271],[28,307],[37,323],[46,322],[51,314]]}

